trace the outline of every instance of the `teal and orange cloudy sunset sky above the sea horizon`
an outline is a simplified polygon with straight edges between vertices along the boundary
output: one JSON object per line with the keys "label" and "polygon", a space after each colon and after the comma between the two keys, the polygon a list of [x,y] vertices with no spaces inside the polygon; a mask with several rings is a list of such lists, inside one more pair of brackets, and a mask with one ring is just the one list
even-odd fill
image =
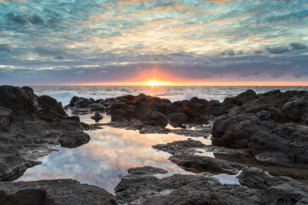
{"label": "teal and orange cloudy sunset sky above the sea horizon", "polygon": [[308,85],[307,0],[0,0],[0,37],[0,85]]}

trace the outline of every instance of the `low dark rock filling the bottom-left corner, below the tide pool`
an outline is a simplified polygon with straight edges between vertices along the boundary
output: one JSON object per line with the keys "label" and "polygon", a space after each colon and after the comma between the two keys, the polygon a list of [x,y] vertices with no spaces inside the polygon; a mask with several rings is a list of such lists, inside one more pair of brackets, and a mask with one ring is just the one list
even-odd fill
{"label": "low dark rock filling the bottom-left corner, below the tide pool", "polygon": [[0,204],[111,204],[116,197],[76,180],[0,182]]}

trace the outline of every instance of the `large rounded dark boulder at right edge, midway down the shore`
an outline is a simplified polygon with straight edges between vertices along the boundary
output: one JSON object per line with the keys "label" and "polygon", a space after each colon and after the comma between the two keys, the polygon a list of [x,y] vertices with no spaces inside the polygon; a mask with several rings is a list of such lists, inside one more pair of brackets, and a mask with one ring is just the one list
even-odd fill
{"label": "large rounded dark boulder at right edge, midway down the shore", "polygon": [[[221,117],[214,122],[212,144],[227,148],[248,148],[256,156],[262,152],[272,153],[274,158],[270,157],[268,161],[276,159],[277,162],[307,163],[307,131],[298,128],[262,121],[255,114]],[[258,156],[264,161],[270,154]]]}

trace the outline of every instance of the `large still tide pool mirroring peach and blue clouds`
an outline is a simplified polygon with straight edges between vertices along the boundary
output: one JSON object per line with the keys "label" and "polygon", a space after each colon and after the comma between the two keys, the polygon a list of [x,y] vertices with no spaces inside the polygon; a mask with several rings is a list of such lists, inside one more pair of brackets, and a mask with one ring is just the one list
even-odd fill
{"label": "large still tide pool mirroring peach and blue clouds", "polygon": [[[90,116],[90,115],[89,115]],[[82,115],[81,119],[90,118]],[[107,121],[104,115],[104,121]],[[84,120],[83,120],[84,121]],[[157,143],[184,140],[188,137],[168,134],[140,134],[138,131],[127,131],[123,128],[104,126],[97,131],[86,131],[91,137],[89,143],[75,149],[61,148],[60,152],[54,152],[40,159],[42,165],[27,169],[18,180],[41,180],[55,178],[73,178],[81,183],[93,184],[103,187],[110,193],[114,193],[114,187],[120,182],[120,178],[127,174],[129,167],[151,165],[168,169],[164,175],[192,174],[168,161],[170,154],[151,148]],[[203,143],[207,139],[196,137]]]}

